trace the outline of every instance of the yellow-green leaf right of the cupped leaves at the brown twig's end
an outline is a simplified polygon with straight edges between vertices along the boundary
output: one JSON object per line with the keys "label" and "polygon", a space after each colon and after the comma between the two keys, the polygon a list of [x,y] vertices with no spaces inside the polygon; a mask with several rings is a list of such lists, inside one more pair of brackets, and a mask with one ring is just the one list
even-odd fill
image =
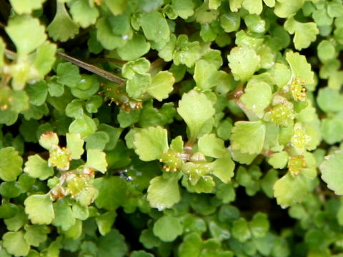
{"label": "yellow-green leaf right of the cupped leaves at the brown twig's end", "polygon": [[147,87],[146,92],[155,99],[162,101],[168,98],[170,92],[173,91],[175,79],[169,71],[159,71],[151,79],[151,84]]}

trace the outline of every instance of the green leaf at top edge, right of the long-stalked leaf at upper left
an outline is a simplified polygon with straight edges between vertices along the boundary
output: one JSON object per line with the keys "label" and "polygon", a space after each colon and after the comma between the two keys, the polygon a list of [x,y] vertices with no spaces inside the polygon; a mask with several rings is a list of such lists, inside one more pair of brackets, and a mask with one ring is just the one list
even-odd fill
{"label": "green leaf at top edge, right of the long-stalked leaf at upper left", "polygon": [[99,11],[96,6],[90,6],[90,2],[77,0],[70,6],[70,13],[73,20],[76,21],[82,28],[86,28],[95,24],[99,16]]}

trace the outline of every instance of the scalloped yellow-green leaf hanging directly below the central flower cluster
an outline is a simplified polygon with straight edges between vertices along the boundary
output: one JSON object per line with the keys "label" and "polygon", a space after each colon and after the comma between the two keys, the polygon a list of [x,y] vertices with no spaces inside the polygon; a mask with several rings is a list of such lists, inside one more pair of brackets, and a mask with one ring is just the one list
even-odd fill
{"label": "scalloped yellow-green leaf hanging directly below the central flower cluster", "polygon": [[178,203],[180,201],[180,192],[177,181],[177,177],[164,178],[163,176],[156,176],[151,179],[146,197],[150,206],[162,211],[165,208],[172,208],[175,203]]}

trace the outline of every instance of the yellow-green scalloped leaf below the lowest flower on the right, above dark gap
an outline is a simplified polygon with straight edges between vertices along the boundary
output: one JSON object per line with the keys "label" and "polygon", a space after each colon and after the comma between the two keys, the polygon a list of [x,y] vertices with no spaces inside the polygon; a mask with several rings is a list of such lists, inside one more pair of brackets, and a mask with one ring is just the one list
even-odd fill
{"label": "yellow-green scalloped leaf below the lowest flower on the right, above dark gap", "polygon": [[301,203],[307,196],[307,185],[301,176],[292,177],[287,173],[282,178],[274,183],[274,197],[277,198],[277,203],[282,207]]}

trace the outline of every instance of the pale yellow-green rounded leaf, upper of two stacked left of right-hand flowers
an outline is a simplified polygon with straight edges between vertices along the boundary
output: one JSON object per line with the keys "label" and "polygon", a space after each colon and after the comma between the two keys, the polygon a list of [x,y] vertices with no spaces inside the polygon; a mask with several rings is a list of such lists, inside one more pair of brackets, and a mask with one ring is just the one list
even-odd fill
{"label": "pale yellow-green rounded leaf, upper of two stacked left of right-hand flowers", "polygon": [[235,80],[247,81],[259,69],[260,57],[249,46],[236,46],[227,56]]}

